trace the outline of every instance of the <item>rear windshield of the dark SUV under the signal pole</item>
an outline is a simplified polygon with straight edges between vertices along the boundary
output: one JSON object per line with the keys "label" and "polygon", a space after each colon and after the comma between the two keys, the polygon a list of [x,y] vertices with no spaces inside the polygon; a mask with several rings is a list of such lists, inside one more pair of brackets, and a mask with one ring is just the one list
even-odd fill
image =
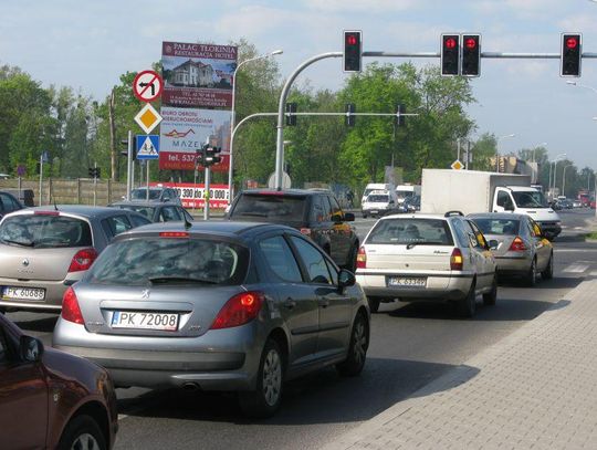
{"label": "rear windshield of the dark SUV under the signal pole", "polygon": [[306,197],[284,195],[244,193],[234,206],[230,217],[254,217],[302,221],[305,217]]}

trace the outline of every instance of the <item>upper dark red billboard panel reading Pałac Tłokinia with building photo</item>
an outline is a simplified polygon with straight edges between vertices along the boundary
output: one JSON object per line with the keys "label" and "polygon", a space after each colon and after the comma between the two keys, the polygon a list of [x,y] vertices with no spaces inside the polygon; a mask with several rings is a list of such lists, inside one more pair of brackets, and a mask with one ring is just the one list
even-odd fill
{"label": "upper dark red billboard panel reading Pa\u0142ac T\u0142okinia with building photo", "polygon": [[232,106],[233,45],[163,42],[163,106]]}

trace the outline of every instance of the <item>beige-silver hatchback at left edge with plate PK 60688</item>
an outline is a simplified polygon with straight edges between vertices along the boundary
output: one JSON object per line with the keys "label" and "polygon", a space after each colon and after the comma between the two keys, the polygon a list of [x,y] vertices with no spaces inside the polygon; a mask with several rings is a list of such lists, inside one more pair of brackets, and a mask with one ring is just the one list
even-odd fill
{"label": "beige-silver hatchback at left edge with plate PK 60688", "polygon": [[119,232],[149,220],[134,211],[59,205],[21,209],[0,222],[0,310],[55,311]]}

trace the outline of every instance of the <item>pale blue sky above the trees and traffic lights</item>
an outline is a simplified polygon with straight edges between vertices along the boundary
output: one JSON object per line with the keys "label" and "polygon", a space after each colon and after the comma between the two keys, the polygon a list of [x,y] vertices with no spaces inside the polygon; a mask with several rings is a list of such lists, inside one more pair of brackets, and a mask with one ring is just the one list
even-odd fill
{"label": "pale blue sky above the trees and traffic lights", "polygon": [[[100,101],[121,74],[150,69],[163,41],[244,38],[263,53],[282,49],[273,57],[285,79],[311,56],[342,51],[343,30],[362,30],[364,51],[408,53],[439,52],[447,32],[481,33],[483,52],[559,53],[561,33],[580,32],[585,55],[596,57],[583,59],[582,77],[561,77],[559,60],[483,59],[472,81],[478,103],[468,114],[478,124],[473,137],[493,133],[501,154],[546,143],[552,159],[566,153],[578,168],[597,169],[597,1],[0,0],[0,64],[21,67],[44,87],[72,86]],[[439,66],[439,59],[411,61]],[[342,59],[329,59],[296,83],[337,90],[346,76]]]}

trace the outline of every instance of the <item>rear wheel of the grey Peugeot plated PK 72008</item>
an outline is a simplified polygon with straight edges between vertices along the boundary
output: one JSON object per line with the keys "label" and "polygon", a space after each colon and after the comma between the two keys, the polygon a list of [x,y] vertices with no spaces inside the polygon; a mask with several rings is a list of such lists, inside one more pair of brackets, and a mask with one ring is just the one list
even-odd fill
{"label": "rear wheel of the grey Peugeot plated PK 72008", "polygon": [[280,345],[272,338],[265,342],[259,363],[255,390],[241,391],[239,402],[248,417],[272,417],[282,402],[284,386],[284,357]]}

